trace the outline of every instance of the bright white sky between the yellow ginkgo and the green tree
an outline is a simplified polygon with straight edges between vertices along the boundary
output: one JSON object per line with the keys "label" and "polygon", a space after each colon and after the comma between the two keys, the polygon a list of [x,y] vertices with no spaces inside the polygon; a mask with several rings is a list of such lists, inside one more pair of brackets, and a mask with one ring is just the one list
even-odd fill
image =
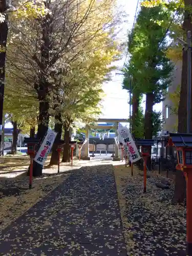
{"label": "bright white sky between the yellow ginkgo and the green tree", "polygon": [[[127,30],[131,30],[134,22],[135,11],[137,7],[137,0],[117,0],[118,5],[122,6],[123,10],[128,15],[127,23],[122,25],[122,31],[118,35],[120,39],[126,41]],[[122,60],[115,63],[118,69],[123,67],[125,61],[126,51],[124,51],[124,56]],[[112,80],[108,83],[103,84],[103,91],[105,93],[105,98],[102,102],[103,109],[100,118],[129,118],[129,104],[127,103],[129,99],[129,93],[122,89],[122,75],[117,75],[116,73],[121,73],[119,70],[113,72]],[[142,100],[142,106],[145,109],[145,97]],[[154,110],[162,111],[162,103],[156,104]]]}

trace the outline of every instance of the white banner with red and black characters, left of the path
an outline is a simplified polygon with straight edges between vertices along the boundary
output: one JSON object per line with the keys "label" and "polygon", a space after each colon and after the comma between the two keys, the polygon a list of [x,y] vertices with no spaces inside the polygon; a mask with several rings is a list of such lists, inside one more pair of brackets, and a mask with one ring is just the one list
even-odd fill
{"label": "white banner with red and black characters, left of the path", "polygon": [[37,151],[37,154],[34,158],[35,162],[37,162],[38,164],[44,165],[47,159],[47,156],[51,151],[56,135],[57,133],[53,132],[50,129],[47,131],[44,141],[40,145],[39,150]]}

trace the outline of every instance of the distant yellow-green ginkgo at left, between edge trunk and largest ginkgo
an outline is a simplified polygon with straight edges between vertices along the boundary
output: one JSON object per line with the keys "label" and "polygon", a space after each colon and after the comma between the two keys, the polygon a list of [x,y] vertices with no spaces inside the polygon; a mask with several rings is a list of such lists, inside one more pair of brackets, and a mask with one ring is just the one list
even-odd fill
{"label": "distant yellow-green ginkgo at left, between edge trunk and largest ginkgo", "polygon": [[34,127],[37,125],[38,104],[35,99],[35,92],[27,90],[27,84],[23,81],[12,80],[9,73],[9,63],[7,65],[5,87],[4,115],[6,121],[13,125],[13,141],[11,153],[16,154],[18,134],[30,134],[34,136]]}

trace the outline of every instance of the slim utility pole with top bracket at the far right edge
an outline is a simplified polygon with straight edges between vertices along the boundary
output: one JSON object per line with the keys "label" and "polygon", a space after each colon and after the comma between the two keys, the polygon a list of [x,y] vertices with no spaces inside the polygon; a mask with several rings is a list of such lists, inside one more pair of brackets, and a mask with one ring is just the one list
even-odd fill
{"label": "slim utility pole with top bracket at the far right edge", "polygon": [[187,32],[187,42],[177,37],[180,44],[183,46],[183,50],[187,51],[187,133],[190,133],[190,87],[191,87],[191,33]]}

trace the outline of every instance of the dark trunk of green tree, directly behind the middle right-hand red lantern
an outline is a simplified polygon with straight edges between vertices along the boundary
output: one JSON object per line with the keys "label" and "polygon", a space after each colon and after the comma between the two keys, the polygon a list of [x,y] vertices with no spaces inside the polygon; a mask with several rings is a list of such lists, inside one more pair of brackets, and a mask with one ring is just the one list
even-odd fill
{"label": "dark trunk of green tree, directly behind the middle right-hand red lantern", "polygon": [[[144,139],[152,139],[153,136],[153,105],[154,105],[154,94],[146,94],[146,105],[145,105],[145,120],[144,120]],[[152,147],[147,148],[147,152],[152,153]],[[151,157],[147,158],[147,168],[151,170]]]}

